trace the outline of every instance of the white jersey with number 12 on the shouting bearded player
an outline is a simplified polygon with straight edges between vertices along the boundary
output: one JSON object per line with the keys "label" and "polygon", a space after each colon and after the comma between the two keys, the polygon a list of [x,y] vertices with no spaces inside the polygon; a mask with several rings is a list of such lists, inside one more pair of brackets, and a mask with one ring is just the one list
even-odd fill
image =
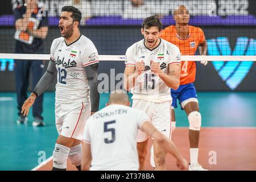
{"label": "white jersey with number 12 on the shouting bearded player", "polygon": [[93,42],[84,35],[69,45],[57,38],[52,42],[51,60],[57,69],[56,102],[90,102],[84,67],[99,61]]}

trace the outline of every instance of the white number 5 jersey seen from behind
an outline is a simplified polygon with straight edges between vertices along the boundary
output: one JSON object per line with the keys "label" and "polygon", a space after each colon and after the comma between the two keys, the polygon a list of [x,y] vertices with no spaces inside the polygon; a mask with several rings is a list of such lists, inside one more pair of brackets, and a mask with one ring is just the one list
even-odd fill
{"label": "white number 5 jersey seen from behind", "polygon": [[91,144],[90,170],[139,169],[137,130],[150,121],[143,111],[124,105],[109,105],[86,122],[84,142]]}

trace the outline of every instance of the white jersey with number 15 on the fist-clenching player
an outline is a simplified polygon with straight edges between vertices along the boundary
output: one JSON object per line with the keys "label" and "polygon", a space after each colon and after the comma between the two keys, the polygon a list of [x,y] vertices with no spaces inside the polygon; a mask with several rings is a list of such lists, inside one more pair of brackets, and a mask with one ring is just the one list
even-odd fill
{"label": "white jersey with number 15 on the fist-clenching player", "polygon": [[126,51],[125,65],[135,67],[138,61],[144,62],[144,72],[137,78],[134,88],[131,89],[133,99],[150,102],[171,101],[171,89],[164,84],[163,80],[150,70],[150,61],[156,61],[160,69],[168,74],[168,65],[180,64],[180,50],[174,44],[160,39],[160,44],[154,49],[145,46],[144,39],[133,44]]}

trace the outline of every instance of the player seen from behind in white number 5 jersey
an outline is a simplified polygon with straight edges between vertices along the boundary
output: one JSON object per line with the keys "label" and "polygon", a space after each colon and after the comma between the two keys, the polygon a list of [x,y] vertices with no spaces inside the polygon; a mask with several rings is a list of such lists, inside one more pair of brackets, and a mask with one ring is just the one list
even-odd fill
{"label": "player seen from behind in white number 5 jersey", "polygon": [[164,151],[174,155],[177,167],[187,168],[188,163],[175,144],[156,130],[143,111],[129,105],[127,94],[117,90],[110,94],[108,106],[88,119],[82,140],[82,170],[138,170],[138,128],[154,137]]}

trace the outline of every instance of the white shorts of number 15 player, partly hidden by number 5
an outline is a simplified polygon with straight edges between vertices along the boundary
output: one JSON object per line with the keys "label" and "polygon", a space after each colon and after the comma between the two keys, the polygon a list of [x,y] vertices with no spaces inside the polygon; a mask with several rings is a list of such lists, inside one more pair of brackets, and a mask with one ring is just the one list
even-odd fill
{"label": "white shorts of number 15 player, partly hidden by number 5", "polygon": [[[133,100],[133,107],[143,110],[151,120],[152,125],[162,134],[171,139],[171,101],[162,103],[149,102],[143,100]],[[148,135],[138,130],[137,142],[144,142]]]}

